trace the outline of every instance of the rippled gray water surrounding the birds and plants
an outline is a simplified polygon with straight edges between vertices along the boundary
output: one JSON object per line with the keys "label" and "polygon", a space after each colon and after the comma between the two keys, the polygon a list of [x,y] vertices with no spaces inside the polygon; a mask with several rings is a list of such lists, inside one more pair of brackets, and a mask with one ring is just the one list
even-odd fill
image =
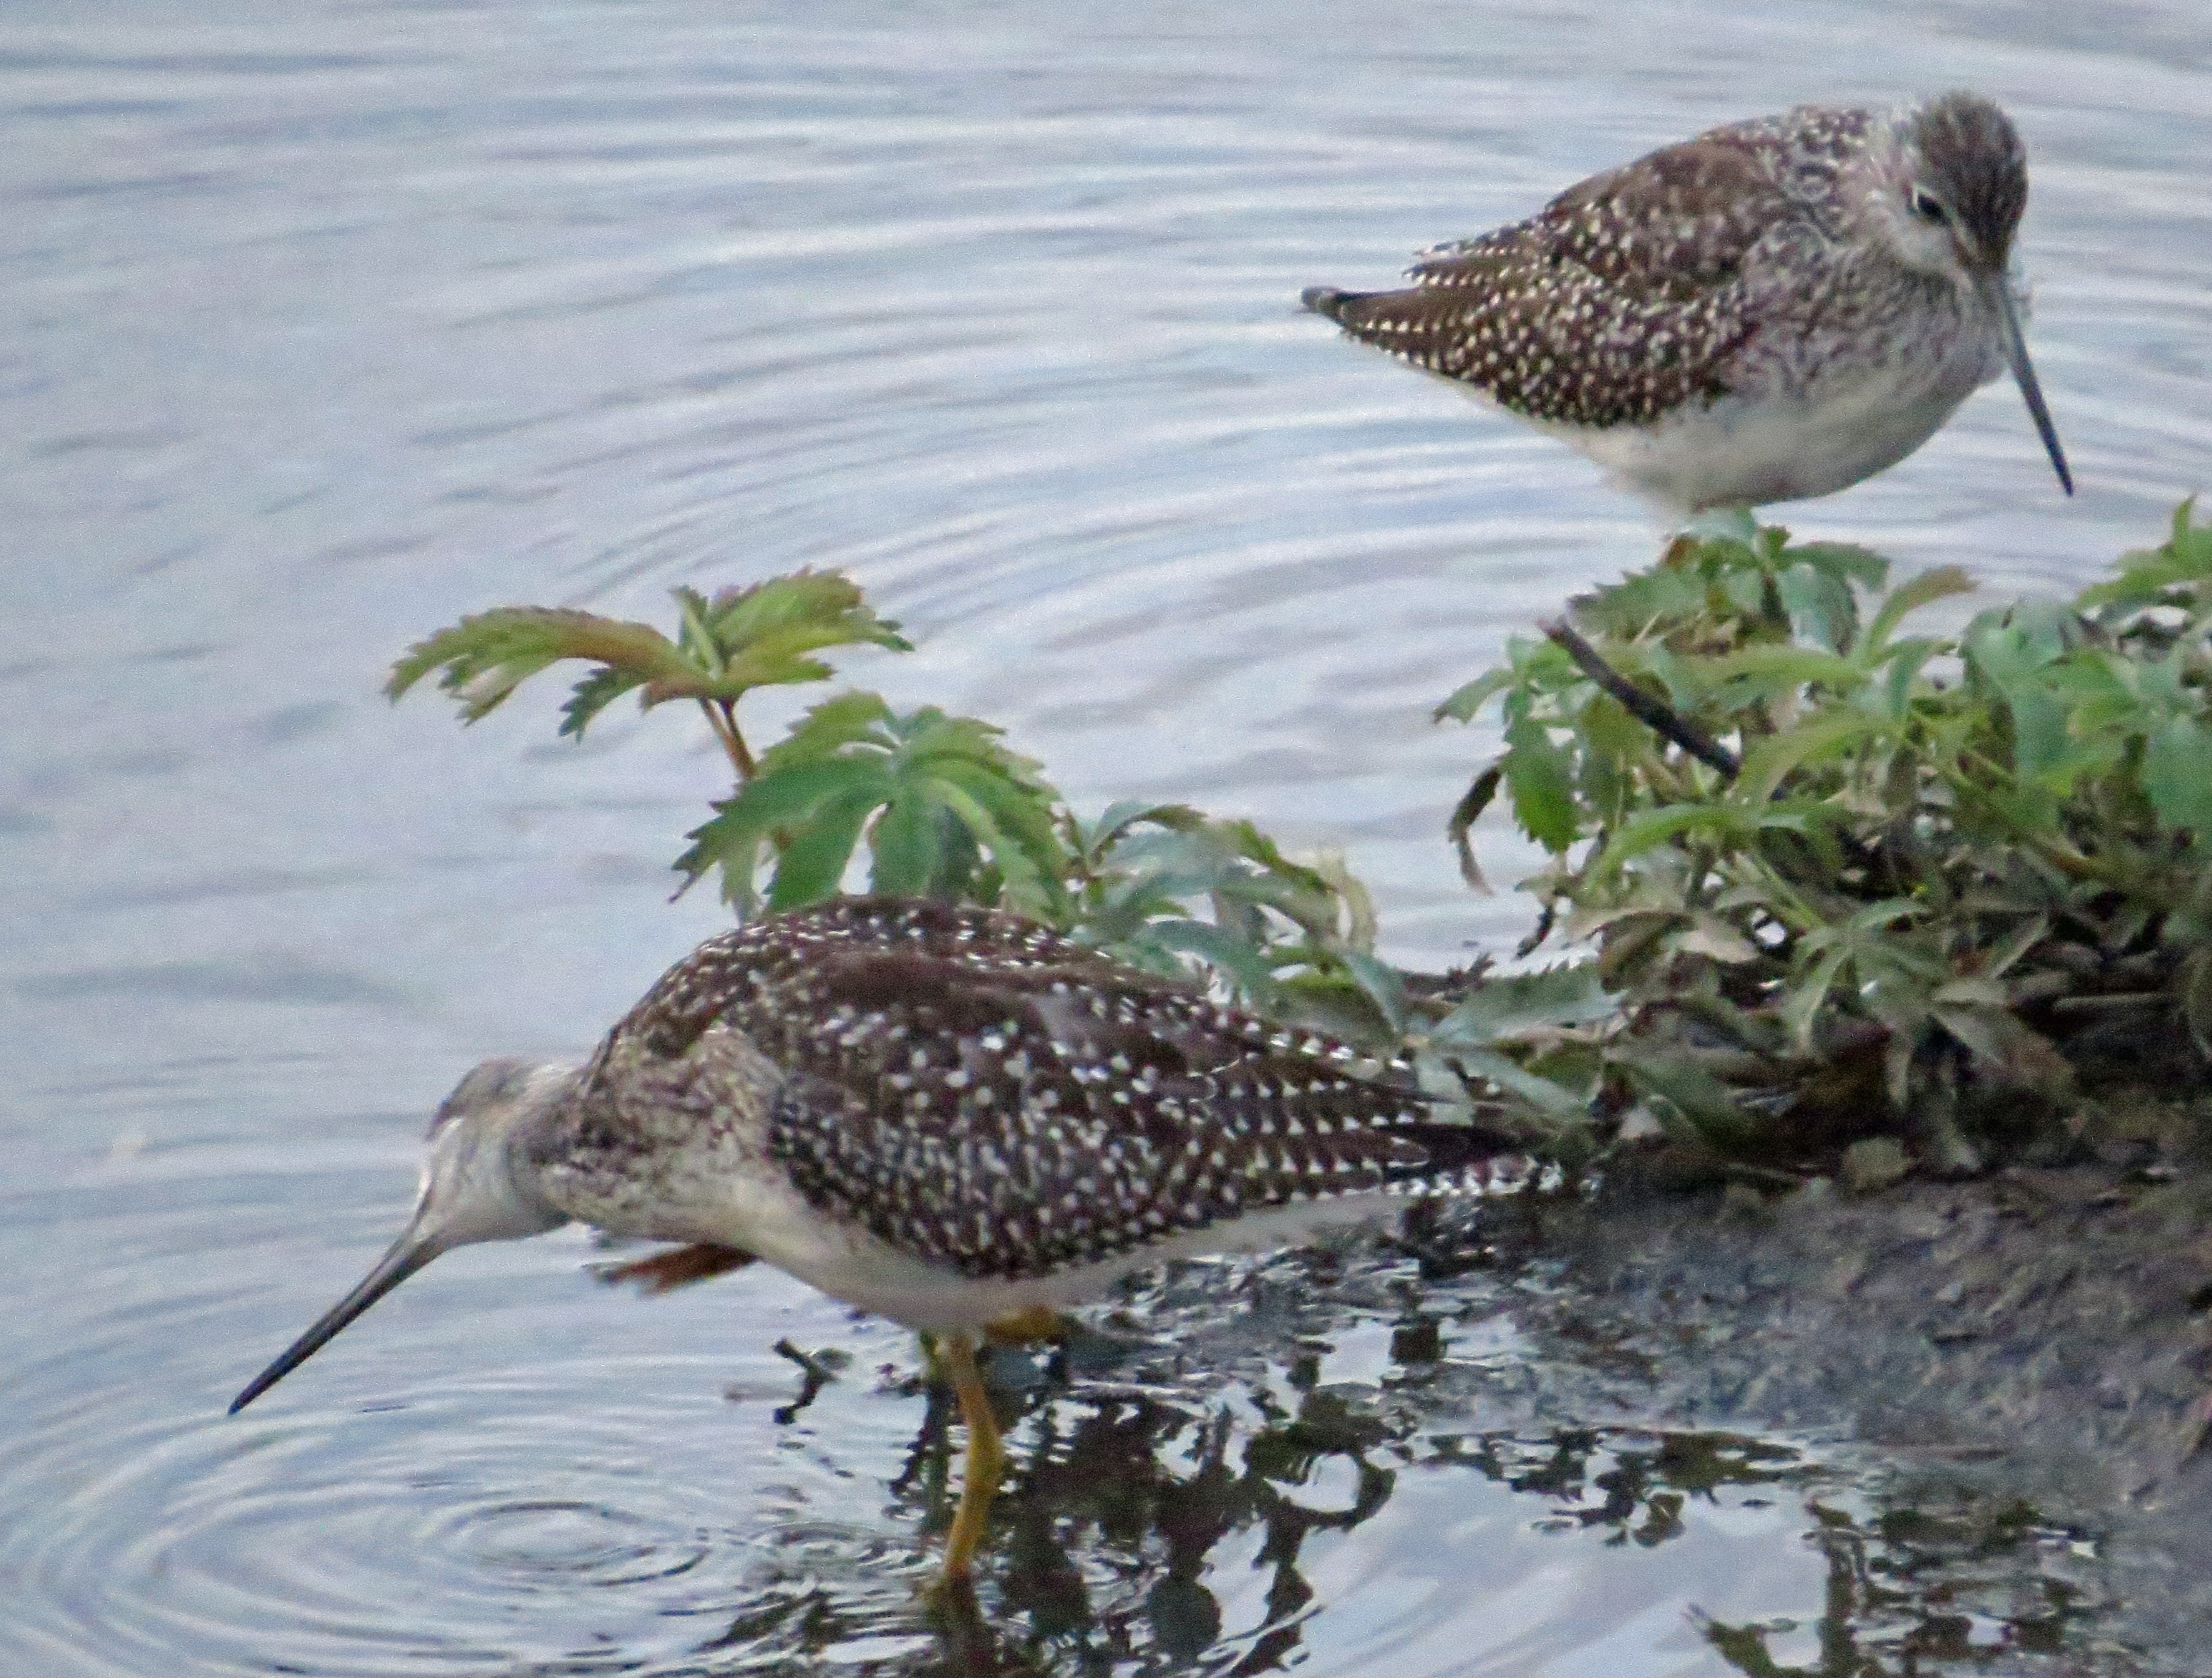
{"label": "rippled gray water surrounding the birds and plants", "polygon": [[[0,1669],[2192,1669],[2126,1647],[2081,1519],[1515,1410],[1562,1353],[1500,1326],[1513,1278],[1387,1258],[1281,1320],[1239,1313],[1305,1260],[1201,1271],[1044,1371],[964,1629],[916,1601],[911,1346],[770,1273],[639,1304],[571,1234],[471,1249],[221,1415],[396,1229],[467,1063],[580,1050],[721,922],[666,902],[723,789],[686,719],[577,747],[526,690],[462,734],[378,699],[409,641],[845,568],[920,646],[854,681],[1002,723],[1077,807],[1345,847],[1398,959],[1502,946],[1526,900],[1440,840],[1491,741],[1429,705],[1657,531],[1298,287],[1951,84],[2031,146],[2081,495],[1993,387],[1787,517],[2057,592],[2212,460],[2194,0],[13,0]],[[799,1413],[779,1338],[849,1355]]]}

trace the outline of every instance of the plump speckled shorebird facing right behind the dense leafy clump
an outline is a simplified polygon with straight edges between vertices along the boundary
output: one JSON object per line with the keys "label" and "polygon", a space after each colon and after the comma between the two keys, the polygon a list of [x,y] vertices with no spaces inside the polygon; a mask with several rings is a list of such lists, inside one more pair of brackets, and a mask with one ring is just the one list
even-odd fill
{"label": "plump speckled shorebird facing right behind the dense leafy clump", "polygon": [[1679,513],[1847,489],[2002,369],[2073,495],[2020,334],[2026,201],[2020,133],[1973,93],[1798,106],[1436,245],[1411,290],[1303,301]]}

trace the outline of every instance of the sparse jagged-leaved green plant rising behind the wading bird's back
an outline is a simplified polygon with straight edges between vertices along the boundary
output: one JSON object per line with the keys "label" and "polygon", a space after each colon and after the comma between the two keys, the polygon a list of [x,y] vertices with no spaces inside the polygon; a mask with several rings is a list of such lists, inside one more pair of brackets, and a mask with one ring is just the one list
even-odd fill
{"label": "sparse jagged-leaved green plant rising behind the wading bird's back", "polygon": [[1186,805],[1115,805],[1084,820],[991,723],[933,705],[896,712],[841,692],[754,754],[739,703],[823,681],[841,646],[907,650],[836,573],[794,573],[703,597],[675,590],[677,632],[593,612],[509,606],[409,648],[387,692],[436,674],[462,721],[562,661],[584,677],[562,707],[582,738],[615,699],[699,705],[737,787],[677,858],[719,875],[741,915],[816,902],[865,860],[869,891],[1018,909],[1157,971],[1197,966],[1248,1001],[1396,1041],[1400,979],[1374,957],[1374,904],[1336,858],[1296,862],[1250,822]]}

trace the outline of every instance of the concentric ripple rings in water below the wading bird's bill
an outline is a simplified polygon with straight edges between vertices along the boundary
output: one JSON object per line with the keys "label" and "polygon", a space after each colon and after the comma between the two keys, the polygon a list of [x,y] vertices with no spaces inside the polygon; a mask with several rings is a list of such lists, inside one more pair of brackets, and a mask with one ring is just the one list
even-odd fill
{"label": "concentric ripple rings in water below the wading bird's bill", "polygon": [[757,1559],[743,1486],[664,1475],[639,1417],[593,1415],[573,1380],[533,1388],[71,1430],[33,1466],[71,1490],[0,1539],[20,1634],[53,1669],[349,1678],[712,1638]]}

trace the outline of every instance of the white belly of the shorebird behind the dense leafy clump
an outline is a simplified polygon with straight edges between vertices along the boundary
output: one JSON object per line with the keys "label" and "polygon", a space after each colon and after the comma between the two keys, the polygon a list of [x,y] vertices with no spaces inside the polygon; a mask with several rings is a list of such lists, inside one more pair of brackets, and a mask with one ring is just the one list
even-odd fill
{"label": "white belly of the shorebird behind the dense leafy clump", "polygon": [[1807,391],[1723,396],[1655,424],[1544,427],[1670,508],[1829,495],[1905,460],[1997,371],[1982,358],[1869,367]]}

